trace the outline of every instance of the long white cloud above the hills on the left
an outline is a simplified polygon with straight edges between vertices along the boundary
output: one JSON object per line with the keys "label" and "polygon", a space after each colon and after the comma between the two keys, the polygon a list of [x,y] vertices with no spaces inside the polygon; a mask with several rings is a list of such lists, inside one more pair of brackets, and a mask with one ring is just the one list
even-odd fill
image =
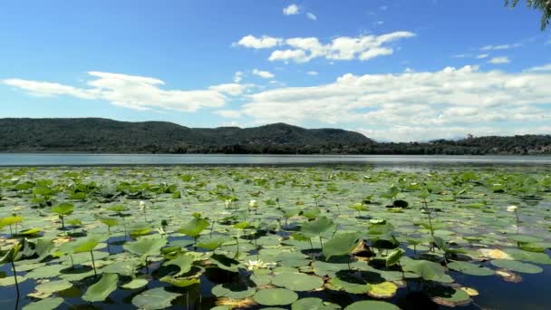
{"label": "long white cloud above the hills on the left", "polygon": [[203,90],[163,90],[159,79],[119,73],[89,72],[93,79],[87,87],[78,88],[53,82],[7,79],[1,81],[34,96],[73,96],[86,100],[102,100],[134,110],[198,111],[221,107],[232,96],[242,94],[247,85],[219,84]]}

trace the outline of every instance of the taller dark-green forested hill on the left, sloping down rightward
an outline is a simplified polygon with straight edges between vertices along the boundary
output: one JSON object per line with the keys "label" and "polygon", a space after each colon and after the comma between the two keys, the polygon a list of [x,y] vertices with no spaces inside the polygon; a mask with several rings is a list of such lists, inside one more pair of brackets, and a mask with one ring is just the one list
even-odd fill
{"label": "taller dark-green forested hill on the left, sloping down rightward", "polygon": [[0,119],[0,151],[278,152],[362,143],[372,140],[353,131],[308,130],[285,123],[206,129],[166,121]]}

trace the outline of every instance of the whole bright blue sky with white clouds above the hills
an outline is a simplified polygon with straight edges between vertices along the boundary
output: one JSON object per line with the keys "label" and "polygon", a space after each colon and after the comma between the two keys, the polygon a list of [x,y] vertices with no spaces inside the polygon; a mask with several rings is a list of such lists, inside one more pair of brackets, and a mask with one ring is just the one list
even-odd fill
{"label": "whole bright blue sky with white clouds above the hills", "polygon": [[67,4],[0,4],[0,117],[284,121],[396,141],[551,132],[551,30],[524,5]]}

